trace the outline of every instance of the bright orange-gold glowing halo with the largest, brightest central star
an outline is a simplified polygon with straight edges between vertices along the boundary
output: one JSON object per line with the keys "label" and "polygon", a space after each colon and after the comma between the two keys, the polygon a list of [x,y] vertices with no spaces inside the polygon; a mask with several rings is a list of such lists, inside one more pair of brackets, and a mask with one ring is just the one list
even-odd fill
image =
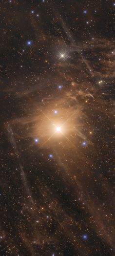
{"label": "bright orange-gold glowing halo with the largest, brightest central star", "polygon": [[[57,106],[57,104],[55,104],[55,106]],[[55,113],[55,115],[53,115],[53,112]],[[47,144],[53,146],[54,142],[57,144],[60,142],[62,143],[63,141],[64,143],[64,141],[66,140],[67,142],[69,142],[69,145],[76,148],[75,143],[72,141],[72,136],[74,136],[74,133],[76,131],[74,125],[76,120],[76,113],[76,110],[66,113],[65,111],[62,111],[61,108],[59,109],[59,107],[58,110],[55,109],[54,106],[52,107],[52,111],[51,108],[49,109],[48,113],[40,111],[39,119],[41,119],[41,122],[39,122],[37,134],[34,134],[41,137],[40,143],[38,144],[39,147],[43,147]]]}

